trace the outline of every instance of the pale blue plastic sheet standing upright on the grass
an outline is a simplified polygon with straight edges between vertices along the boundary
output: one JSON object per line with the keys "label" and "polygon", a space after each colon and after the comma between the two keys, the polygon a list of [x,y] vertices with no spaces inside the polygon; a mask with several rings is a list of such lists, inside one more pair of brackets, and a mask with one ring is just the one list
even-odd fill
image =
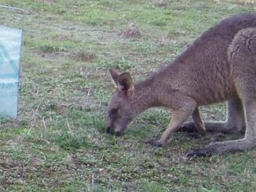
{"label": "pale blue plastic sheet standing upright on the grass", "polygon": [[0,26],[0,117],[16,118],[22,30]]}

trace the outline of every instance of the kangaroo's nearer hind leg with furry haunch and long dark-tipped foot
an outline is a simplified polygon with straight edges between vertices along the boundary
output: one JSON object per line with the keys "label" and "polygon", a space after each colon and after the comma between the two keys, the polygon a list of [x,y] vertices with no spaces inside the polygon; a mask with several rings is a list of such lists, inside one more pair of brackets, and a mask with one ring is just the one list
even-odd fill
{"label": "kangaroo's nearer hind leg with furry haunch and long dark-tipped foot", "polygon": [[256,147],[256,28],[247,28],[236,34],[229,47],[229,62],[236,91],[243,103],[245,136],[243,139],[210,143],[207,147],[189,151],[187,157],[223,154]]}

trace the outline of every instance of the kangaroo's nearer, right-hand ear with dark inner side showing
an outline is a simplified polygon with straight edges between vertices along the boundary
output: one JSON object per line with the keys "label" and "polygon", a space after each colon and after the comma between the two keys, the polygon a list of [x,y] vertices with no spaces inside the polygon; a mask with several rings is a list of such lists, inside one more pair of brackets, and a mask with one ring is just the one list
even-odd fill
{"label": "kangaroo's nearer, right-hand ear with dark inner side showing", "polygon": [[133,94],[133,79],[131,78],[130,73],[126,72],[119,75],[119,77],[117,78],[117,88],[120,91],[124,91],[129,95]]}

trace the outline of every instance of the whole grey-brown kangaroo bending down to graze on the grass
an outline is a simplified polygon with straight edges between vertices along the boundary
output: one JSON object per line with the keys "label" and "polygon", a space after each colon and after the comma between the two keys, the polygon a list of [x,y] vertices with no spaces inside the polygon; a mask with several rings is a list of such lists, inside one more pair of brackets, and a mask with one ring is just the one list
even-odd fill
{"label": "whole grey-brown kangaroo bending down to graze on the grass", "polygon": [[[164,146],[192,115],[185,127],[207,131],[244,132],[243,139],[210,143],[187,157],[208,156],[256,146],[256,14],[222,20],[204,32],[166,67],[133,84],[130,73],[110,74],[117,86],[108,103],[108,129],[120,135],[149,107],[167,107],[172,119],[163,136],[149,143]],[[227,101],[227,119],[203,122],[199,106]]]}

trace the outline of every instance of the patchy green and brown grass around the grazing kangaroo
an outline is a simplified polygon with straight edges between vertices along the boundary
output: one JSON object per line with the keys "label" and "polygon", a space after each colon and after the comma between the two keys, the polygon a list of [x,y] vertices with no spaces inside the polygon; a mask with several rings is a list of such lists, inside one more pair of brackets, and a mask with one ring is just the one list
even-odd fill
{"label": "patchy green and brown grass around the grazing kangaroo", "polygon": [[[139,80],[221,18],[255,12],[253,1],[2,4],[27,10],[23,24],[20,13],[2,9],[0,17],[2,24],[24,26],[19,118],[0,121],[2,191],[256,189],[254,150],[186,160],[187,150],[210,143],[212,135],[190,139],[184,133],[163,149],[148,147],[144,142],[161,135],[169,111],[147,110],[120,138],[108,136],[104,125],[114,91],[108,68],[131,71]],[[200,110],[204,119],[225,118],[223,103]]]}

